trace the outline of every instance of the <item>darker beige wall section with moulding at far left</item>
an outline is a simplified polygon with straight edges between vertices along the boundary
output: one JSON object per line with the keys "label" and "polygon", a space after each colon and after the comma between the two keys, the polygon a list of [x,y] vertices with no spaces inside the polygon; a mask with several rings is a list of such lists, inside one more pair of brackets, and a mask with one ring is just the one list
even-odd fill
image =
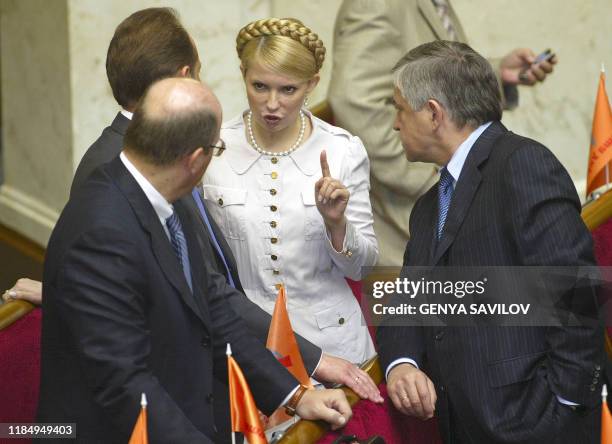
{"label": "darker beige wall section with moulding at far left", "polygon": [[0,8],[0,223],[44,243],[72,175],[66,3],[2,0]]}

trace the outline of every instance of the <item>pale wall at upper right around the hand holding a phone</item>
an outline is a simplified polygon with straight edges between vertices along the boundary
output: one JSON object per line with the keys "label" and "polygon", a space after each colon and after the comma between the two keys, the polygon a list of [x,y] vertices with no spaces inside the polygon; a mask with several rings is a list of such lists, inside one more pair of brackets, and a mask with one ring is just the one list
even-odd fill
{"label": "pale wall at upper right around the hand holding a phone", "polygon": [[[491,7],[495,3],[495,7]],[[504,123],[548,146],[584,196],[591,122],[601,63],[612,70],[612,1],[453,1],[473,47],[503,55],[518,46],[551,48],[559,64],[546,82],[521,88],[520,108]],[[612,76],[609,76],[612,79]],[[612,92],[612,80],[608,80]]]}

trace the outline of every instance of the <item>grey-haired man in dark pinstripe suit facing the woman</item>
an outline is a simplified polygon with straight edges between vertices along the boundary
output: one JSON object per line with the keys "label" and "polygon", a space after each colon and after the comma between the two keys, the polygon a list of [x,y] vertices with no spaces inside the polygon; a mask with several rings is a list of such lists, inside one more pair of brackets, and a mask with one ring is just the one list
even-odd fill
{"label": "grey-haired man in dark pinstripe suit facing the woman", "polygon": [[[412,211],[404,276],[416,266],[595,264],[568,173],[501,124],[484,58],[437,41],[394,71],[406,157],[441,168]],[[572,304],[592,322],[575,327],[381,327],[395,407],[424,419],[435,409],[447,443],[598,442],[603,330],[586,296]]]}

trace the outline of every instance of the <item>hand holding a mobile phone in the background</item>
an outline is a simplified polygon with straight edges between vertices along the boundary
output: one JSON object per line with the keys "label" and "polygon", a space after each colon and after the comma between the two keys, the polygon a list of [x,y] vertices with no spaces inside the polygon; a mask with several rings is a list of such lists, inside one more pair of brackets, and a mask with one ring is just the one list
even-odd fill
{"label": "hand holding a mobile phone in the background", "polygon": [[534,85],[543,82],[553,71],[557,56],[549,61],[534,64],[536,56],[531,49],[517,48],[500,62],[501,80],[506,85]]}

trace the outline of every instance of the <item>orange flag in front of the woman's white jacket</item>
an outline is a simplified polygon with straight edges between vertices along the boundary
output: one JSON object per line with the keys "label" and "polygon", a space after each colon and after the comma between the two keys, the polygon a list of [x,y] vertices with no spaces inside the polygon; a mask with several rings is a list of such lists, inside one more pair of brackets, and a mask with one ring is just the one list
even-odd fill
{"label": "orange flag in front of the woman's white jacket", "polygon": [[[289,313],[287,313],[287,296],[285,295],[285,287],[281,286],[274,305],[274,313],[272,313],[272,321],[270,322],[270,330],[268,331],[268,340],[266,347],[278,359],[278,362],[283,364],[287,370],[300,381],[300,384],[311,386],[310,376],[306,371],[304,360],[297,345],[297,340],[293,334]],[[291,417],[280,408],[270,416],[268,428],[281,424]]]}

